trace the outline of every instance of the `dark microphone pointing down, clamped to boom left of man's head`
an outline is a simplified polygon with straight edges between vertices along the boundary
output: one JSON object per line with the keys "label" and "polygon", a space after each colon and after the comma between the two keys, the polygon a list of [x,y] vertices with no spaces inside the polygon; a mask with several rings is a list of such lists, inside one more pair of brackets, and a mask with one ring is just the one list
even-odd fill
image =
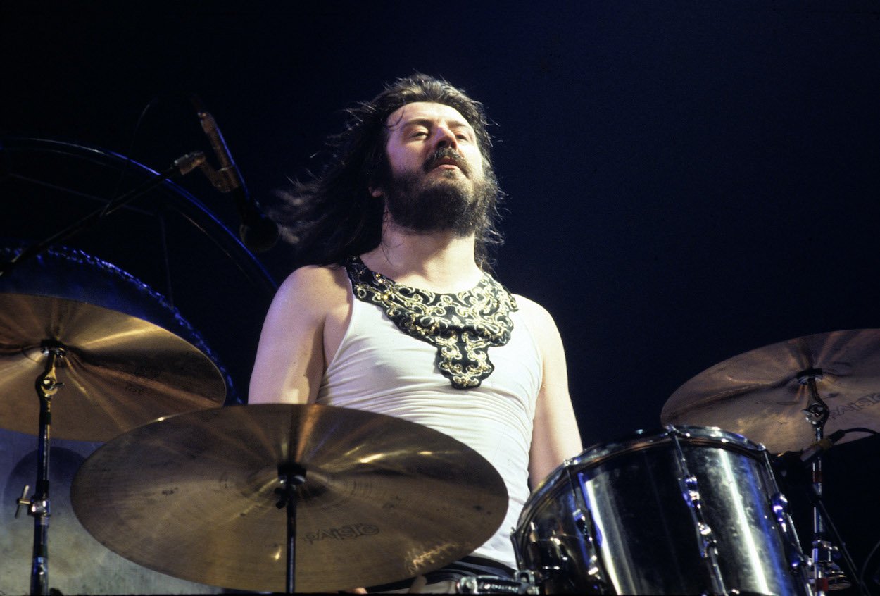
{"label": "dark microphone pointing down, clamped to boom left of man's head", "polygon": [[193,98],[193,103],[198,111],[199,120],[202,121],[202,130],[208,136],[211,148],[217,156],[217,161],[220,162],[219,170],[214,171],[213,168],[204,167],[202,170],[208,175],[215,188],[222,193],[232,194],[240,222],[238,237],[242,243],[254,253],[265,252],[278,241],[278,224],[266,217],[248,194],[245,180],[242,180],[238,166],[232,161],[229,148],[217,127],[214,116],[202,109],[198,99]]}

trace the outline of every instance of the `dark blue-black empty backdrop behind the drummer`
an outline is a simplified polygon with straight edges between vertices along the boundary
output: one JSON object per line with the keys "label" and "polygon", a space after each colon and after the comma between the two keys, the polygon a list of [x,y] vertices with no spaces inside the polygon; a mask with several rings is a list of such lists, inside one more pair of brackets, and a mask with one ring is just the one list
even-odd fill
{"label": "dark blue-black empty backdrop behind the drummer", "polygon": [[[7,6],[0,134],[161,170],[209,151],[194,92],[271,205],[289,177],[319,170],[312,156],[343,108],[416,70],[447,78],[495,122],[509,195],[496,270],[554,314],[585,445],[658,428],[672,392],[728,357],[880,327],[880,4],[279,5]],[[111,158],[86,175],[40,156],[4,158],[4,171],[105,198],[118,186]],[[230,197],[200,177],[181,187],[235,228]],[[42,230],[62,224],[27,191],[0,192],[4,233],[37,239],[37,217]],[[280,282],[294,262],[281,245],[259,265],[221,254],[205,238],[223,232],[207,227],[172,230],[171,282],[150,264],[164,257],[149,225],[102,224],[69,244],[173,292],[244,399],[270,296],[254,276],[262,266]],[[860,566],[880,540],[877,447],[865,438],[825,460],[829,507]],[[800,532],[808,542],[810,527]]]}

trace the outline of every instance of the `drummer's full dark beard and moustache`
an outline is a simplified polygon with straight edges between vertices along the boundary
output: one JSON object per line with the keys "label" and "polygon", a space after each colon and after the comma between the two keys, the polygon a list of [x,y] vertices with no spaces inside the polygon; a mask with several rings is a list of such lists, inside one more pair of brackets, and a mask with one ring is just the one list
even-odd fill
{"label": "drummer's full dark beard and moustache", "polygon": [[[468,177],[466,165],[429,174],[438,158],[426,161],[424,172],[393,176],[385,185],[385,209],[394,224],[413,232],[453,232],[464,237],[488,225],[489,211],[495,208],[498,184],[491,171],[478,180]],[[427,175],[426,175],[427,174]]]}

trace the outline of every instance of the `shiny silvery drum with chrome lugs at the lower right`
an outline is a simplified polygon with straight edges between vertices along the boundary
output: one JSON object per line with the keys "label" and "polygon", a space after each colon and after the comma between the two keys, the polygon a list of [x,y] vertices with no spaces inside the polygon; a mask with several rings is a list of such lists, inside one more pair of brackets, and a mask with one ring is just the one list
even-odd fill
{"label": "shiny silvery drum with chrome lugs at the lower right", "polygon": [[535,490],[513,541],[546,593],[810,594],[766,450],[715,428],[591,447]]}

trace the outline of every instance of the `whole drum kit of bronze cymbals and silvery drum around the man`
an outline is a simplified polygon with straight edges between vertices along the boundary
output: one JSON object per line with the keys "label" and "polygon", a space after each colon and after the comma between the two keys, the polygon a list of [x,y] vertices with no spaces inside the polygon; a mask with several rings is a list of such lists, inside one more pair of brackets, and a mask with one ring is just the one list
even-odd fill
{"label": "whole drum kit of bronze cymbals and silvery drum around the man", "polygon": [[[466,556],[501,524],[504,483],[466,445],[347,408],[223,407],[222,366],[157,292],[76,250],[4,250],[0,263],[20,262],[0,275],[0,427],[37,436],[35,489],[16,499],[33,518],[32,594],[50,592],[50,437],[104,443],[70,483],[90,537],[201,585],[387,584]],[[671,395],[664,430],[594,445],[533,491],[511,533],[516,579],[464,578],[458,591],[847,587],[821,501],[822,453],[880,430],[878,386],[878,329],[716,364]],[[786,452],[812,468],[810,553],[770,457]]]}

